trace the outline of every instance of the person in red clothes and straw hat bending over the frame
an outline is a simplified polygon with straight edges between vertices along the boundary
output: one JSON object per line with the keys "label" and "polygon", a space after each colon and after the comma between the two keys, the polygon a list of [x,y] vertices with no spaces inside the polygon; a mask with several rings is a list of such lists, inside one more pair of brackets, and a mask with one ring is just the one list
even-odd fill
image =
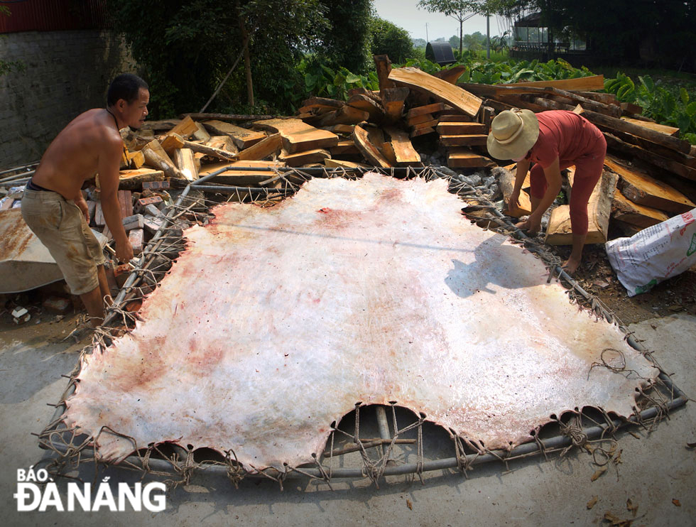
{"label": "person in red clothes and straw hat bending over the frame", "polygon": [[574,272],[582,259],[587,238],[587,202],[602,176],[607,141],[601,131],[584,117],[565,110],[534,114],[529,110],[506,110],[491,123],[488,151],[494,158],[517,162],[515,188],[509,202],[518,203],[520,190],[531,163],[532,213],[516,227],[536,234],[541,217],[560,192],[560,171],[575,165],[570,192],[572,251],[564,264]]}

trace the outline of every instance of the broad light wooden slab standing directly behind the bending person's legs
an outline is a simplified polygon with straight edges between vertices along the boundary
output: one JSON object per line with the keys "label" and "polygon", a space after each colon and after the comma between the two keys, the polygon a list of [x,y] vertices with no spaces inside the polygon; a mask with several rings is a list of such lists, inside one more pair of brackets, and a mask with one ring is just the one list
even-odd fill
{"label": "broad light wooden slab standing directly behind the bending person's legs", "polygon": [[[619,176],[604,170],[587,203],[587,238],[585,244],[603,244],[607,241],[611,202]],[[572,174],[570,175],[572,181]],[[572,184],[571,184],[572,185]],[[572,192],[572,190],[571,190]],[[570,205],[560,205],[551,211],[545,242],[549,245],[571,245]]]}

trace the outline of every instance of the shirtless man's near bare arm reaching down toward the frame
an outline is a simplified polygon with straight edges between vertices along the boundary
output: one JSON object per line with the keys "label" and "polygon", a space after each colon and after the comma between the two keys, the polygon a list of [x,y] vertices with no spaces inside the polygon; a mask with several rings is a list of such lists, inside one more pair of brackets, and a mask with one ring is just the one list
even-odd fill
{"label": "shirtless man's near bare arm reaching down toward the frame", "polygon": [[102,212],[107,227],[116,240],[116,259],[128,262],[133,258],[133,248],[124,229],[119,207],[119,165],[121,164],[122,145],[109,138],[104,150],[99,154],[99,195],[101,196]]}

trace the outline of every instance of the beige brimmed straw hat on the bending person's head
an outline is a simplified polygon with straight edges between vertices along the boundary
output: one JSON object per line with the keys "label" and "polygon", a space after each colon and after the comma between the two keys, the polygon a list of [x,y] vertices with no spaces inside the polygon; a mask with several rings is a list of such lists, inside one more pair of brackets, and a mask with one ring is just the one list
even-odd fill
{"label": "beige brimmed straw hat on the bending person's head", "polygon": [[496,115],[486,145],[496,159],[518,159],[525,156],[538,137],[539,121],[534,112],[514,108]]}

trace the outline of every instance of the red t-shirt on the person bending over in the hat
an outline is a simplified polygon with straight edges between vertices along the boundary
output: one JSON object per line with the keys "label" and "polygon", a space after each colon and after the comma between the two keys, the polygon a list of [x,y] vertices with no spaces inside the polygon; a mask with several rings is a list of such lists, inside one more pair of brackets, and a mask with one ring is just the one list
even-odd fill
{"label": "red t-shirt on the person bending over in the hat", "polygon": [[590,153],[602,137],[597,126],[583,116],[567,110],[549,110],[536,114],[539,138],[529,151],[528,159],[543,168],[558,157],[560,164],[575,161]]}

